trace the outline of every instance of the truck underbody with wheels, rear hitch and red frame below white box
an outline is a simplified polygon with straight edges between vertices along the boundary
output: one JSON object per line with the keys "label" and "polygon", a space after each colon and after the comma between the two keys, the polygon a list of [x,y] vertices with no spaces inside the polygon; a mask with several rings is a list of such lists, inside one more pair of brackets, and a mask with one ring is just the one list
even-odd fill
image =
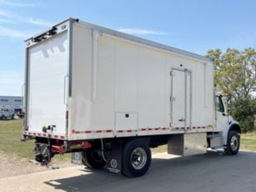
{"label": "truck underbody with wheels, rear hitch and red frame below white box", "polygon": [[[206,148],[225,149],[227,155],[235,155],[239,151],[239,133],[240,130],[235,127],[230,129],[230,138],[228,138],[227,145],[223,145],[222,133],[207,133]],[[180,146],[184,145],[183,137],[184,134],[164,134],[80,141],[35,138],[36,161],[42,165],[47,165],[55,155],[80,152],[85,166],[94,169],[105,167],[111,172],[121,173],[128,177],[137,177],[143,176],[149,169],[151,162],[150,148],[167,144],[168,153],[180,156],[192,155],[191,152],[186,154],[187,146],[183,149],[178,148],[178,144]],[[193,148],[192,150],[197,149]],[[198,153],[198,151],[195,152],[195,154]]]}

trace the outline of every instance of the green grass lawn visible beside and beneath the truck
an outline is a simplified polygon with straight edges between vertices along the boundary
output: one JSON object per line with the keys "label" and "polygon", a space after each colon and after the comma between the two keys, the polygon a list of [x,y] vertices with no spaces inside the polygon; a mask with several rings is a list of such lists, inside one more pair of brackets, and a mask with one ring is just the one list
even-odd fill
{"label": "green grass lawn visible beside and beneath the truck", "polygon": [[[21,142],[22,119],[0,120],[0,152],[17,157],[34,158],[34,140]],[[241,149],[256,151],[256,132],[241,135]],[[153,148],[152,152],[166,152],[167,146]],[[70,160],[70,154],[56,156],[55,161]]]}

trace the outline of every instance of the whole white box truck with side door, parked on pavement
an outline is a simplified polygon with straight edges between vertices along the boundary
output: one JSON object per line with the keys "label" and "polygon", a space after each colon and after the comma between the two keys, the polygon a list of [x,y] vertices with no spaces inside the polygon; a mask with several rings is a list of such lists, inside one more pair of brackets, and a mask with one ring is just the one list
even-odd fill
{"label": "whole white box truck with side door, parked on pavement", "polygon": [[180,156],[239,151],[239,124],[215,93],[211,60],[69,18],[26,40],[25,139],[36,161],[142,176],[150,148]]}

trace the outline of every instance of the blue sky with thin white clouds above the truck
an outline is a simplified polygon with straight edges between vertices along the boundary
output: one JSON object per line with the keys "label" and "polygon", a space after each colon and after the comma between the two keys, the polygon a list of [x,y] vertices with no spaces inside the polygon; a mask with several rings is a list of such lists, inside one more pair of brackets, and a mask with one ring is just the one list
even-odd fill
{"label": "blue sky with thin white clouds above the truck", "polygon": [[255,7],[254,0],[0,0],[0,95],[21,95],[23,40],[69,16],[204,55],[255,48]]}

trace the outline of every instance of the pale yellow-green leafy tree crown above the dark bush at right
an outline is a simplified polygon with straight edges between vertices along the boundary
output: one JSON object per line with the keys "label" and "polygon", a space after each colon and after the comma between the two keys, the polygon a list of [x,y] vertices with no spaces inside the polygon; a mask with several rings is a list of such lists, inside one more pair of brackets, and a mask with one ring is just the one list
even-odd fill
{"label": "pale yellow-green leafy tree crown above the dark bush at right", "polygon": [[215,67],[217,90],[235,99],[249,98],[256,91],[256,51],[249,48],[239,51],[211,49],[206,57],[212,59]]}

